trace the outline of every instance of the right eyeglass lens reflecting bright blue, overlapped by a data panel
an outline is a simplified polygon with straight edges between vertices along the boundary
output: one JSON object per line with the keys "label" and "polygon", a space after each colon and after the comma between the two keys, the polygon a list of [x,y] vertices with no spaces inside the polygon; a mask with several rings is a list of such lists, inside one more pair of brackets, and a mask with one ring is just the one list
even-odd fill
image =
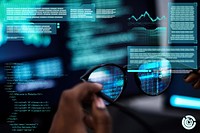
{"label": "right eyeglass lens reflecting bright blue, overlapped by a data panel", "polygon": [[141,89],[148,95],[159,95],[167,89],[171,81],[171,64],[166,59],[157,59],[143,63],[139,70],[138,77],[141,82]]}

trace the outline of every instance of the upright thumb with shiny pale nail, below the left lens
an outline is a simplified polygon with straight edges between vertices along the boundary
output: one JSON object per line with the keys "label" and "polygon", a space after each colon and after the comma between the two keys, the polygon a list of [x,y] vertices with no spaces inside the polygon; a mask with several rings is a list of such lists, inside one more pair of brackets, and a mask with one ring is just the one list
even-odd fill
{"label": "upright thumb with shiny pale nail, below the left lens", "polygon": [[100,97],[95,96],[92,104],[95,133],[112,133],[110,114]]}

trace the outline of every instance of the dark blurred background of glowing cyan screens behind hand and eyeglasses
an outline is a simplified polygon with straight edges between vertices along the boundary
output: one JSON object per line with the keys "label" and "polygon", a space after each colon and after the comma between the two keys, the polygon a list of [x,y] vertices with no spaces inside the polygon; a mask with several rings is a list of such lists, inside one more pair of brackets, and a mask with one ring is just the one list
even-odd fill
{"label": "dark blurred background of glowing cyan screens behind hand and eyeglasses", "polygon": [[[61,92],[81,82],[80,77],[93,66],[102,63],[127,65],[127,46],[199,47],[198,43],[169,44],[169,2],[199,4],[197,0],[0,1],[1,131],[23,132],[30,129],[31,132],[48,132]],[[56,24],[56,34],[27,33],[16,40],[6,33],[5,25],[16,21],[5,21],[4,5],[19,3],[33,7],[47,3],[94,3],[96,20],[44,21],[42,23]],[[144,17],[139,19],[140,16]],[[199,14],[197,18],[200,18]],[[21,23],[31,24],[33,21],[30,19]],[[200,39],[198,34],[197,40]],[[119,102],[130,107],[155,132],[200,131],[200,91],[183,81],[185,73],[173,74],[168,89],[159,96],[144,95],[138,88],[134,74],[127,75],[128,83]],[[176,98],[194,106],[176,105],[173,101]],[[137,120],[112,105],[108,108],[113,118],[114,133],[148,132]],[[188,114],[197,120],[193,130],[186,130],[181,124],[182,118]],[[26,128],[22,130],[22,126]]]}

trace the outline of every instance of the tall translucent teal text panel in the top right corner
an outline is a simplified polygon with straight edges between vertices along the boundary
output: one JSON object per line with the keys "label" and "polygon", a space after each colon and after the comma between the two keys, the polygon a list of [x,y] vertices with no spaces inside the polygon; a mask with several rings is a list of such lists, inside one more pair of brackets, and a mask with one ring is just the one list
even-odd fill
{"label": "tall translucent teal text panel in the top right corner", "polygon": [[197,3],[169,3],[168,42],[197,43]]}

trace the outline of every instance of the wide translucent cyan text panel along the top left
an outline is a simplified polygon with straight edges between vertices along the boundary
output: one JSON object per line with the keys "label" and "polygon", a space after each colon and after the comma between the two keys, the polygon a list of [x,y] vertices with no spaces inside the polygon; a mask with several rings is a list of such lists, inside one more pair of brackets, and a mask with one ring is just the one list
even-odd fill
{"label": "wide translucent cyan text panel along the top left", "polygon": [[95,4],[5,4],[6,21],[95,21]]}

